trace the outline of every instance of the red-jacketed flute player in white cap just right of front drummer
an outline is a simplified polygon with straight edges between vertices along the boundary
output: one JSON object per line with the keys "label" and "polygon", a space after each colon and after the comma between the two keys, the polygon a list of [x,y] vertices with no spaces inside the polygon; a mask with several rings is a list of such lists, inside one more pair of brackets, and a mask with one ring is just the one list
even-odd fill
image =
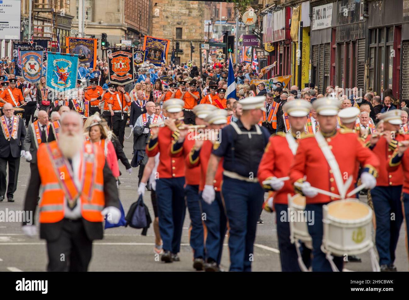
{"label": "red-jacketed flute player in white cap just right of front drummer", "polygon": [[[403,221],[400,202],[404,178],[402,167],[396,162],[398,167],[392,164],[394,168],[387,168],[398,143],[407,140],[407,136],[399,132],[402,124],[401,112],[400,109],[394,109],[382,113],[378,117],[384,121],[382,136],[370,135],[366,138],[369,149],[380,161],[379,178],[376,187],[371,189],[371,196],[376,216],[375,242],[381,271],[396,271],[393,262]],[[391,214],[394,214],[395,218],[391,219]]]}

